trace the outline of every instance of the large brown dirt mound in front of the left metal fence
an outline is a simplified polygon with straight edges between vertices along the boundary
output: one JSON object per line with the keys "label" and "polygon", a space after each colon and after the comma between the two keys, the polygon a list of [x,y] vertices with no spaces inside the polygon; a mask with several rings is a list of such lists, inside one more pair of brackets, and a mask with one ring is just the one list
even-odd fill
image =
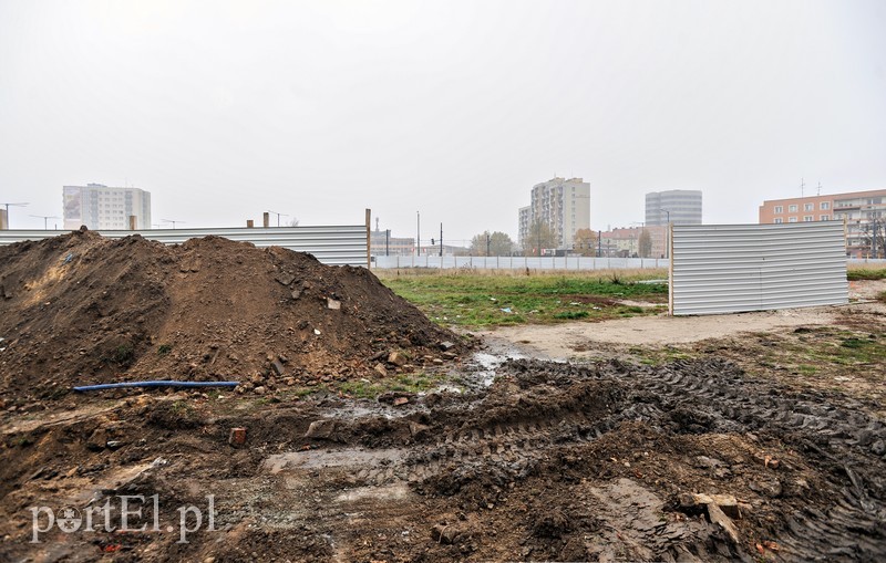
{"label": "large brown dirt mound in front of the left metal fence", "polygon": [[0,263],[0,394],[137,379],[272,390],[430,364],[460,343],[368,270],[276,247],[76,231],[2,247]]}

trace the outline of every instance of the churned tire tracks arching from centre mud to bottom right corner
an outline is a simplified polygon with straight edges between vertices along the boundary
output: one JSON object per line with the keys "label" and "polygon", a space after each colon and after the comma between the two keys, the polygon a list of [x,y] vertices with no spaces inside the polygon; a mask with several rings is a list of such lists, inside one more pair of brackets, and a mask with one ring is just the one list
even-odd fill
{"label": "churned tire tracks arching from centre mud to bottom right corner", "polygon": [[884,477],[877,472],[886,427],[851,405],[745,378],[719,359],[595,368],[521,359],[499,374],[509,376],[509,389],[493,386],[480,402],[435,409],[429,432],[402,456],[353,466],[357,482],[405,482],[439,494],[484,476],[504,486],[562,448],[591,442],[629,420],[679,434],[761,432],[817,459],[842,491],[828,507],[786,515],[775,538],[781,557],[886,560]]}

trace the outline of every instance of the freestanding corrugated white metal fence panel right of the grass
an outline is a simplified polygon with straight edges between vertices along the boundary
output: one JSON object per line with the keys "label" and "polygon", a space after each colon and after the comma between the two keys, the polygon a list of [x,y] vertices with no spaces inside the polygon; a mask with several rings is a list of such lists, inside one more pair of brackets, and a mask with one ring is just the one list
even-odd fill
{"label": "freestanding corrugated white metal fence panel right of the grass", "polygon": [[848,302],[842,221],[673,226],[674,315]]}

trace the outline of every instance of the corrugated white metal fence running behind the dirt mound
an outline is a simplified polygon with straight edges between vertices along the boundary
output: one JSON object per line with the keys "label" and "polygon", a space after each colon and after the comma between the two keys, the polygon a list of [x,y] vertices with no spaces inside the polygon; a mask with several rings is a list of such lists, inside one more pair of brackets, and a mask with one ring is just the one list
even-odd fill
{"label": "corrugated white metal fence running behind the dirt mound", "polygon": [[[0,246],[22,240],[42,240],[66,232],[70,231],[6,230],[0,231]],[[188,239],[216,236],[238,242],[251,242],[258,248],[282,247],[298,252],[309,252],[324,264],[367,265],[367,227],[364,225],[96,232],[109,239],[141,234],[145,239],[156,240],[164,244],[181,244]]]}

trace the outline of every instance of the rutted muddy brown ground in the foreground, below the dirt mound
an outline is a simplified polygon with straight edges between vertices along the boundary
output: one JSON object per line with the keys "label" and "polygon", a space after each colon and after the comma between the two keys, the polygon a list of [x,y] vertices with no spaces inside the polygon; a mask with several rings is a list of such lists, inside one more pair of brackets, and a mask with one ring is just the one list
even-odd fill
{"label": "rutted muddy brown ground in the foreground, below the dirt mound", "polygon": [[0,560],[883,561],[886,315],[836,309],[679,345],[576,340],[565,357],[488,335],[413,366],[436,386],[421,393],[379,378],[378,397],[115,390],[7,408]]}

